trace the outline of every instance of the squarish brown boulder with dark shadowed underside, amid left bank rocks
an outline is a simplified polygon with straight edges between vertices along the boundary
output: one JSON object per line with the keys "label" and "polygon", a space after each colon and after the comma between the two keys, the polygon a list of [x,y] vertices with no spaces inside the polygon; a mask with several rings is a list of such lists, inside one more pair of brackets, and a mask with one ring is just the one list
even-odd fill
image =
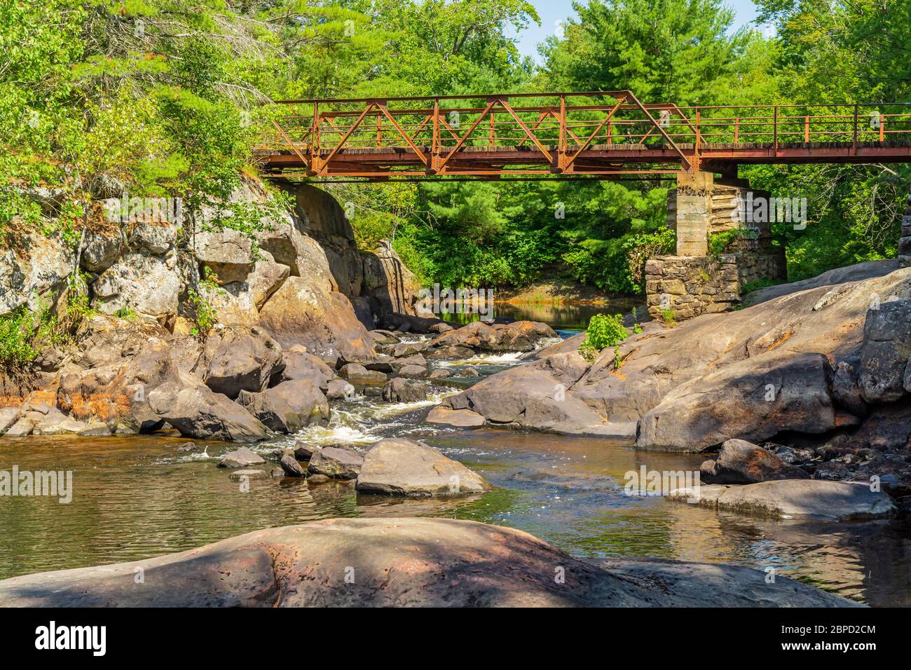
{"label": "squarish brown boulder with dark shadowed underside, amid left bank rocks", "polygon": [[261,328],[229,325],[206,339],[197,374],[216,393],[236,398],[265,390],[282,370],[281,346]]}

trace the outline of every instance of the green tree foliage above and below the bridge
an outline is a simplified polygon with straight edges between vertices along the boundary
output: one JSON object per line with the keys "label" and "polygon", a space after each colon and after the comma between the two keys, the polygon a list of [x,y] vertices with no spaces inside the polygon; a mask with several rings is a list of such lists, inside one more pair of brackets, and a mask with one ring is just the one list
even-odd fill
{"label": "green tree foliage above and below the bridge", "polygon": [[[775,36],[733,28],[722,0],[587,0],[543,64],[515,35],[526,0],[0,0],[0,234],[46,226],[31,191],[63,193],[74,245],[92,201],[173,195],[190,216],[255,170],[272,100],[631,89],[680,105],[907,102],[905,0],[756,0]],[[806,197],[779,227],[793,278],[893,255],[911,173],[896,166],[744,168]],[[327,187],[352,203],[358,242],[382,239],[426,282],[520,286],[558,273],[641,290],[672,183],[459,182]],[[274,206],[283,206],[278,199]],[[256,229],[262,211],[215,223]]]}

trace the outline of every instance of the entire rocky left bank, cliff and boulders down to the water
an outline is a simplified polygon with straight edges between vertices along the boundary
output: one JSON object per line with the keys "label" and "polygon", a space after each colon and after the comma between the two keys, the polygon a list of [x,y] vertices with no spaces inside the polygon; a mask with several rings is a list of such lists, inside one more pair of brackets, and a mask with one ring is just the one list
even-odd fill
{"label": "entire rocky left bank, cliff and boulders down to the water", "polygon": [[[77,250],[71,238],[25,226],[8,235],[3,325],[18,327],[26,308],[77,327],[66,338],[39,331],[35,359],[15,374],[0,370],[0,409],[6,424],[15,420],[0,433],[132,434],[167,423],[187,437],[255,440],[322,417],[328,406],[312,372],[377,362],[368,328],[384,310],[410,309],[415,287],[386,249],[388,267],[368,254],[363,294],[365,260],[343,209],[309,186],[292,196],[293,211],[273,211],[255,231],[217,225],[211,210],[121,219],[98,208]],[[223,209],[267,201],[260,182],[245,180]],[[77,268],[83,281],[74,283]],[[74,294],[90,308],[78,320]],[[193,336],[200,314],[211,317],[207,337]],[[292,425],[259,420],[276,398],[285,403],[276,416]]]}

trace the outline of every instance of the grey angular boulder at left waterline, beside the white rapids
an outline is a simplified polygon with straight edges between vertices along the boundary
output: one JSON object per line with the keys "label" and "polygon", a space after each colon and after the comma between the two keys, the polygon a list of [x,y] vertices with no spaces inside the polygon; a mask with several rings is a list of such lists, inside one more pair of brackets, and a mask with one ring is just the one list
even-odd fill
{"label": "grey angular boulder at left waterline, beside the white rapids", "polygon": [[282,382],[262,393],[241,391],[237,401],[276,432],[294,433],[329,421],[329,403],[309,379]]}

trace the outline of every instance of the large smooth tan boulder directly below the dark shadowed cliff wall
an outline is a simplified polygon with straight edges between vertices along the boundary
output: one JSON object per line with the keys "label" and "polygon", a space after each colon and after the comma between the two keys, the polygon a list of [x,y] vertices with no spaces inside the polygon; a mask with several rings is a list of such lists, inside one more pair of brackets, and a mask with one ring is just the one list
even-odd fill
{"label": "large smooth tan boulder directly below the dark shadowed cliff wall", "polygon": [[367,335],[351,302],[326,293],[302,277],[290,277],[263,305],[260,323],[282,346],[304,345],[334,366],[339,358],[372,362],[374,341]]}

